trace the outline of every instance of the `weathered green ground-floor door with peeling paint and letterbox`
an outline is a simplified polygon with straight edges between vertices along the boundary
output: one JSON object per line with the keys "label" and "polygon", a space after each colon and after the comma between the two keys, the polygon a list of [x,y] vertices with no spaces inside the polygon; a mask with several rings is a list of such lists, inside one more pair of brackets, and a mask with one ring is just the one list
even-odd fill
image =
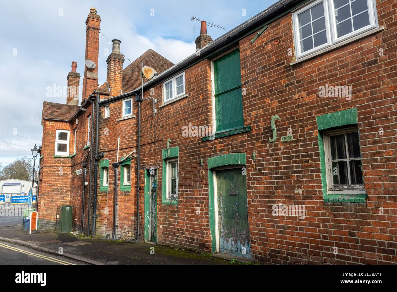
{"label": "weathered green ground-floor door with peeling paint and letterbox", "polygon": [[241,168],[220,170],[216,184],[220,252],[251,258],[246,176]]}

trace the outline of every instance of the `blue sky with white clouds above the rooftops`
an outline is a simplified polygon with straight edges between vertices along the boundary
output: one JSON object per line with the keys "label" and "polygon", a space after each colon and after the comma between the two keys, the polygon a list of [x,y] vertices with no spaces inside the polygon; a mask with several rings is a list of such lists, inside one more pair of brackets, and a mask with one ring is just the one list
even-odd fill
{"label": "blue sky with white clouds above the rooftops", "polygon": [[[85,60],[85,20],[95,7],[102,21],[101,33],[121,40],[124,67],[149,48],[173,63],[195,52],[200,22],[216,39],[265,10],[276,0],[242,1],[2,1],[0,11],[0,163],[31,157],[41,145],[43,101],[66,103],[51,96],[49,87],[66,86],[71,62],[77,62],[82,88]],[[99,85],[106,81],[106,52],[112,45],[99,38]],[[80,90],[81,93],[81,90]],[[81,97],[80,97],[81,101]]]}

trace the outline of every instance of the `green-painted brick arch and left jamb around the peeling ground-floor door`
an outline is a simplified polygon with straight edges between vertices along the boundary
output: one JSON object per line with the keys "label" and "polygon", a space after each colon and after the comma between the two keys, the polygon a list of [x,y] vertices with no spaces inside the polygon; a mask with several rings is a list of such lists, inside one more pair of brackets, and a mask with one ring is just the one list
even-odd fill
{"label": "green-painted brick arch and left jamb around the peeling ground-floor door", "polygon": [[[216,169],[221,166],[241,165],[245,166],[247,155],[245,153],[229,153],[208,158],[208,199],[211,231],[211,253],[217,252],[217,242],[219,238],[216,226],[218,218],[215,216],[215,188],[216,188]],[[218,245],[219,246],[219,245]]]}

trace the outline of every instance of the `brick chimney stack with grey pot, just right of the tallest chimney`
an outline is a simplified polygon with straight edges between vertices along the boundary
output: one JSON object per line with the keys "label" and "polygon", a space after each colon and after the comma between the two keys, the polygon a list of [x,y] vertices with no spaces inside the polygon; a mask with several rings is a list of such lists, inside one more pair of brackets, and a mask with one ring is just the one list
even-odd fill
{"label": "brick chimney stack with grey pot, just right of the tallest chimney", "polygon": [[124,56],[120,53],[120,40],[112,40],[112,53],[108,56],[106,63],[108,64],[108,72],[106,81],[110,88],[110,97],[121,94],[121,85],[123,79],[123,62]]}

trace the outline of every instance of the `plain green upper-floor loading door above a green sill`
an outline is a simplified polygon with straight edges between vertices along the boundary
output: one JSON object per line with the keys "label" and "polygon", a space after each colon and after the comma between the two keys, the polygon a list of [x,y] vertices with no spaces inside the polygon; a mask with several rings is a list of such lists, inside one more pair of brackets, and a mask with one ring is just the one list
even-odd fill
{"label": "plain green upper-floor loading door above a green sill", "polygon": [[244,126],[240,50],[214,61],[216,131]]}

